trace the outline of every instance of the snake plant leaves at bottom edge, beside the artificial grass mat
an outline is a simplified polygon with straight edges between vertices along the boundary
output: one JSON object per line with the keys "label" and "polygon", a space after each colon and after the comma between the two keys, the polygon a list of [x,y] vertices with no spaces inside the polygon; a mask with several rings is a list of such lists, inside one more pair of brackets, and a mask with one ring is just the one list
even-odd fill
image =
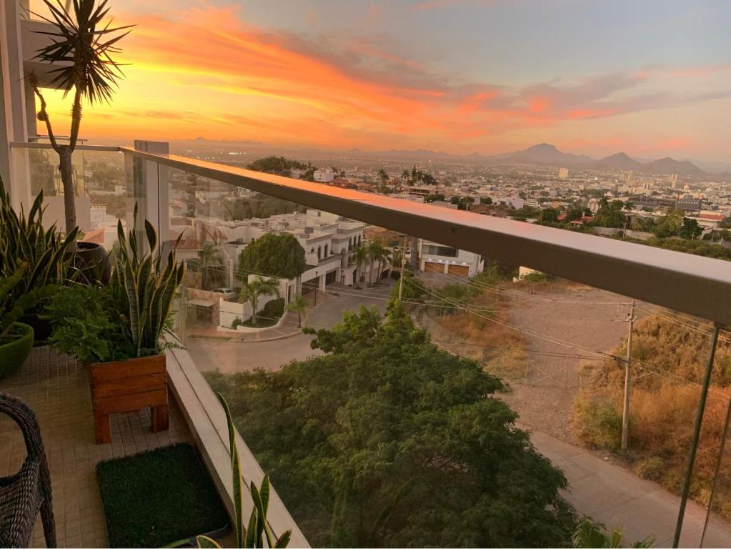
{"label": "snake plant leaves at bottom edge, beside the artificial grass mat", "polygon": [[[220,393],[216,393],[221,406],[226,413],[226,423],[229,433],[229,448],[231,455],[231,473],[233,477],[233,504],[234,504],[234,529],[236,532],[236,547],[238,548],[286,548],[289,539],[292,537],[292,530],[287,530],[281,536],[276,537],[267,522],[267,510],[269,507],[269,494],[271,485],[269,475],[265,474],[261,488],[257,488],[254,481],[249,485],[251,499],[254,501],[254,509],[249,515],[249,527],[243,526],[243,479],[241,477],[241,462],[236,447],[236,430],[231,419],[231,411],[226,400]],[[215,540],[206,536],[198,536],[197,545],[199,548],[221,548]],[[265,541],[266,540],[266,541]],[[266,545],[265,545],[266,542]]]}

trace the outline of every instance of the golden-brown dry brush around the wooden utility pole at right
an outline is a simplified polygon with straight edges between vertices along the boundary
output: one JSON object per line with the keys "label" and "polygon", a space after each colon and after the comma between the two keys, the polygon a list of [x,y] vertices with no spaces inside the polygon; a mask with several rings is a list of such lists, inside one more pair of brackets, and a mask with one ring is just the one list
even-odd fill
{"label": "golden-brown dry brush around the wooden utility pole at right", "polygon": [[[625,457],[640,477],[678,492],[688,463],[710,336],[659,317],[647,317],[637,322],[635,341],[633,374],[639,377],[632,383],[629,453]],[[625,346],[612,351],[618,356],[625,353]],[[724,341],[719,342],[715,365],[691,483],[692,497],[704,504],[726,418],[729,395],[724,387],[731,382],[731,346]],[[587,388],[574,402],[575,435],[584,444],[617,450],[624,364],[616,360],[587,363],[583,375]],[[731,518],[731,459],[722,463],[719,487],[714,510]]]}

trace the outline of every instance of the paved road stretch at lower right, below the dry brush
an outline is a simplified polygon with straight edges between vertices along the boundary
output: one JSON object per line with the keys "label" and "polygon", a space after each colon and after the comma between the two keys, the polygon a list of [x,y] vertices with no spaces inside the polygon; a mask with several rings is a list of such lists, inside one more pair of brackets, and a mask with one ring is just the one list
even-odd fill
{"label": "paved road stretch at lower right, below the dry brush", "polygon": [[[624,467],[545,433],[534,431],[531,441],[540,453],[563,469],[570,485],[565,495],[579,512],[607,526],[621,525],[630,542],[652,534],[657,547],[673,545],[678,496],[655,482],[636,477]],[[689,501],[681,547],[698,547],[704,519],[705,509]],[[731,547],[731,525],[712,518],[703,546]]]}

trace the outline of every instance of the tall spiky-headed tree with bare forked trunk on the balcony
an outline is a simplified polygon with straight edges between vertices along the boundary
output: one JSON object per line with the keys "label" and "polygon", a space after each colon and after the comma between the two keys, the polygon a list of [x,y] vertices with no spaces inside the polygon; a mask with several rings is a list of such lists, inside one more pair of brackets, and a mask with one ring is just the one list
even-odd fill
{"label": "tall spiky-headed tree with bare forked trunk on the balcony", "polygon": [[64,97],[73,93],[68,145],[59,145],[56,140],[37,75],[31,73],[26,78],[40,103],[37,118],[45,123],[50,144],[58,154],[61,181],[64,185],[64,217],[66,230],[69,232],[76,227],[71,155],[79,137],[81,105],[84,99],[89,105],[102,101],[111,102],[117,79],[124,76],[119,64],[111,56],[121,51],[116,44],[129,34],[129,31],[120,31],[129,29],[131,25],[112,28],[110,21],[102,23],[109,12],[107,0],[99,3],[96,0],[74,0],[68,12],[60,0],[43,0],[43,3],[48,8],[49,15],[34,15],[53,25],[53,29],[37,31],[45,34],[50,43],[40,48],[35,58],[57,66],[49,71],[50,86],[62,89]]}

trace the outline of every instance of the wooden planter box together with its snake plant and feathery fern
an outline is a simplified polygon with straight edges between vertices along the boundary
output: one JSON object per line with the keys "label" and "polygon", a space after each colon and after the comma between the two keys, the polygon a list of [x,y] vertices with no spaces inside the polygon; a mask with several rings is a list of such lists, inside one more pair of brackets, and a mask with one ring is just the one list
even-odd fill
{"label": "wooden planter box together with its snake plant and feathery fern", "polygon": [[152,430],[168,426],[164,350],[175,345],[163,336],[170,332],[168,316],[184,267],[175,247],[162,257],[150,222],[145,220],[148,251],[142,251],[135,232],[133,228],[126,237],[119,222],[118,252],[107,286],[64,289],[48,308],[51,343],[88,363],[97,444],[111,441],[109,417],[116,412],[150,407]]}

